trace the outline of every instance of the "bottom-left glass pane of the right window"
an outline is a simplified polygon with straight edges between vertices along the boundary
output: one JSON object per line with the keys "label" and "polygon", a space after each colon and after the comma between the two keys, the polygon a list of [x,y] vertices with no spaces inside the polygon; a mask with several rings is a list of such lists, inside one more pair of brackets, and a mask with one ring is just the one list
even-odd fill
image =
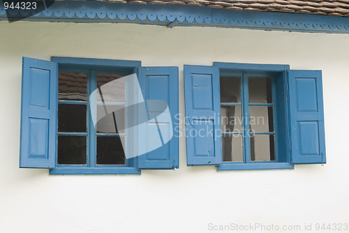
{"label": "bottom-left glass pane of the right window", "polygon": [[223,162],[244,162],[242,135],[222,135]]}

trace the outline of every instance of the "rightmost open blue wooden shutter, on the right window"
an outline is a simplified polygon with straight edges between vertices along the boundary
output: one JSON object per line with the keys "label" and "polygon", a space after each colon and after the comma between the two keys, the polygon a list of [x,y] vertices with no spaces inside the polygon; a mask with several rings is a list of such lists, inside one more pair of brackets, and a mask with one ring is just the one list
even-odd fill
{"label": "rightmost open blue wooden shutter, on the right window", "polygon": [[326,163],[320,70],[290,70],[292,163]]}

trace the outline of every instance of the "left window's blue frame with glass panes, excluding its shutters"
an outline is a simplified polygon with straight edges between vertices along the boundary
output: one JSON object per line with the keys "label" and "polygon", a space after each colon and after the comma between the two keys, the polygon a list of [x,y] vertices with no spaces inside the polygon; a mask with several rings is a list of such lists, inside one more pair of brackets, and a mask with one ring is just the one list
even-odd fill
{"label": "left window's blue frame with glass panes, excluding its shutters", "polygon": [[[92,112],[107,114],[105,111],[113,107],[125,106],[131,98],[127,83],[124,87],[117,87],[112,100],[106,96],[103,98],[99,91],[103,84],[133,73],[135,67],[59,66],[57,164],[51,174],[139,173],[136,158],[125,158],[126,151],[121,141],[128,144],[128,130],[118,130],[115,123],[107,126],[110,131],[105,132],[101,130],[103,121],[95,127],[91,116]],[[94,90],[101,95],[89,98]]]}

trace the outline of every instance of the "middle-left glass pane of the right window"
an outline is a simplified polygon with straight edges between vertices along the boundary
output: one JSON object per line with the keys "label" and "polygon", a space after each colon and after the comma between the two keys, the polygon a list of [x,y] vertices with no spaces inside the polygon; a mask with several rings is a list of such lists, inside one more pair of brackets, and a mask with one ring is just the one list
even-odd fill
{"label": "middle-left glass pane of the right window", "polygon": [[241,106],[221,106],[222,132],[242,133]]}

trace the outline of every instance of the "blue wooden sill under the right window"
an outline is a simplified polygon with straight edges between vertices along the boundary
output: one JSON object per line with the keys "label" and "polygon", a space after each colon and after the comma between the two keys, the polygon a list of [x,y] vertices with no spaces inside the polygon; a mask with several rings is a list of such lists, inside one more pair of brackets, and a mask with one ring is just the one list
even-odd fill
{"label": "blue wooden sill under the right window", "polygon": [[217,171],[293,169],[290,163],[222,163]]}

